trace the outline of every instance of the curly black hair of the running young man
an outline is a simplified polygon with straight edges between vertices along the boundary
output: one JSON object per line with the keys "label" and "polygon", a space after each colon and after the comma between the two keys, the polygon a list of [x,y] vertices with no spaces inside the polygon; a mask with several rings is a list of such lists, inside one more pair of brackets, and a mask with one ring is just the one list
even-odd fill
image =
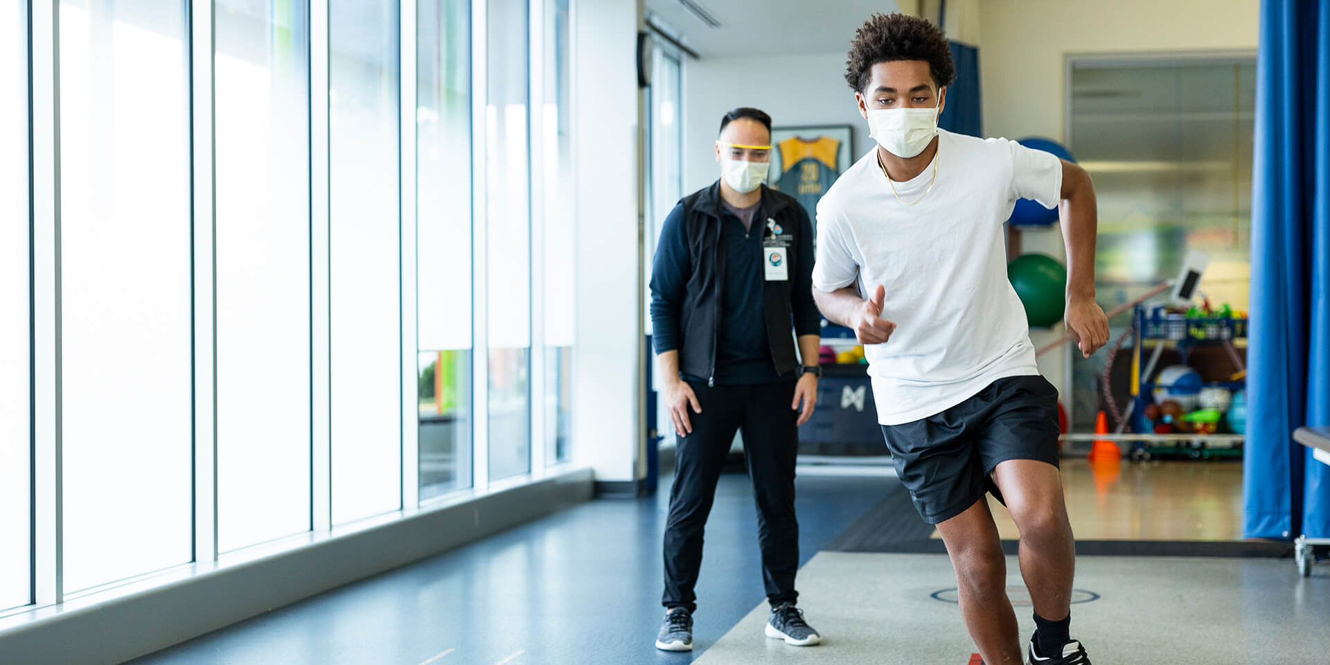
{"label": "curly black hair of the running young man", "polygon": [[928,63],[939,88],[956,78],[951,45],[942,29],[916,16],[875,13],[854,32],[850,57],[845,61],[845,82],[854,92],[863,92],[871,80],[872,65],[896,60]]}

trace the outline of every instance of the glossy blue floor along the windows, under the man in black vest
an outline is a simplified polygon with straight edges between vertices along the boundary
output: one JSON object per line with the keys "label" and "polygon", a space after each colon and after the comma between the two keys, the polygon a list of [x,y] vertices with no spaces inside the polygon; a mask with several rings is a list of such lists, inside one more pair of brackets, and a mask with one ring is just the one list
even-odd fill
{"label": "glossy blue floor along the windows, under the man in black vest", "polygon": [[[799,561],[894,484],[801,476]],[[656,496],[589,501],[134,664],[684,665],[763,600],[757,509],[747,477],[722,475],[697,588],[698,650],[665,653],[654,641],[668,504],[662,477]],[[28,664],[0,653],[0,665]]]}

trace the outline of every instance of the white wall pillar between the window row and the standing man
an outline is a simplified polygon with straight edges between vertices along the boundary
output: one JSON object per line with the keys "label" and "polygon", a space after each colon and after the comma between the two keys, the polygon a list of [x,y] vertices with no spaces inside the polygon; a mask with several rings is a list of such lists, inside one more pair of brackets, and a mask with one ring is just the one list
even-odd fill
{"label": "white wall pillar between the window row and the standing man", "polygon": [[597,481],[645,476],[642,5],[579,0],[572,20],[576,342],[573,455]]}

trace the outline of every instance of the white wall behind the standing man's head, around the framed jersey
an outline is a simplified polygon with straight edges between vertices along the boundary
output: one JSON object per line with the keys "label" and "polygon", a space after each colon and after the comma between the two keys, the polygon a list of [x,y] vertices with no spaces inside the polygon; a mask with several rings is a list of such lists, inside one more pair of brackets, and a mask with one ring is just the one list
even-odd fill
{"label": "white wall behind the standing man's head, around the framed jersey", "polygon": [[[846,37],[849,48],[849,36]],[[845,82],[846,52],[706,57],[684,64],[684,193],[720,177],[716,133],[721,116],[755,106],[775,126],[851,125],[851,162],[872,148],[854,92]],[[666,210],[668,211],[668,210]]]}

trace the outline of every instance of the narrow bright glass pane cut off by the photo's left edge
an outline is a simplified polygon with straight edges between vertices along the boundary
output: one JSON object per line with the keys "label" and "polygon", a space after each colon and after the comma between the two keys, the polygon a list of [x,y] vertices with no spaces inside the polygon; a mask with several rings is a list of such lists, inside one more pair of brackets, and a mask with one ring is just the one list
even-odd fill
{"label": "narrow bright glass pane cut off by the photo's left edge", "polygon": [[25,5],[0,9],[0,609],[32,601]]}

